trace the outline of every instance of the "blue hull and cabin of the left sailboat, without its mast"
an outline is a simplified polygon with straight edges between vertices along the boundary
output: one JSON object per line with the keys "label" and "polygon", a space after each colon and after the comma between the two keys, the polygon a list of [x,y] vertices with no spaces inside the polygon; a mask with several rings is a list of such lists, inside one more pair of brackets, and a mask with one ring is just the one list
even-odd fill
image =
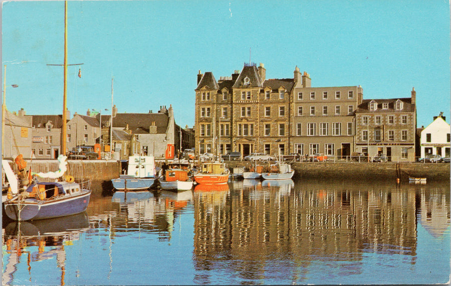
{"label": "blue hull and cabin of the left sailboat, without its mast", "polygon": [[[91,196],[91,182],[68,181],[31,184],[26,191],[4,202],[6,214],[14,220],[29,220],[84,212]],[[83,188],[85,184],[87,187]]]}

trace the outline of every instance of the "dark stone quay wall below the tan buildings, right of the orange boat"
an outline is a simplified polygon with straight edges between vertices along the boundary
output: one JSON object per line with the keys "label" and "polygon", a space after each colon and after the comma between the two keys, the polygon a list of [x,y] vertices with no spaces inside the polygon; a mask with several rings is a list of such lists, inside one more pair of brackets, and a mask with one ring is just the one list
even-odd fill
{"label": "dark stone quay wall below the tan buildings, right of the orange boat", "polygon": [[[246,166],[249,162],[227,162],[229,167]],[[265,163],[266,164],[266,163]],[[327,178],[355,180],[408,181],[410,177],[449,181],[450,165],[445,163],[364,163],[364,162],[296,162],[294,178]]]}

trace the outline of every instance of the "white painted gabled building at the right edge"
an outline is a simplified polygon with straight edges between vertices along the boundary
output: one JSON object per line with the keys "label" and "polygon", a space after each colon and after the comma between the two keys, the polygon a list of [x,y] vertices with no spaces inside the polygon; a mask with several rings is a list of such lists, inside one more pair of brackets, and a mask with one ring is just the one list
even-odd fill
{"label": "white painted gabled building at the right edge", "polygon": [[445,117],[441,113],[439,116],[434,116],[434,121],[421,131],[421,157],[430,154],[437,154],[441,157],[449,156],[450,133],[451,130]]}

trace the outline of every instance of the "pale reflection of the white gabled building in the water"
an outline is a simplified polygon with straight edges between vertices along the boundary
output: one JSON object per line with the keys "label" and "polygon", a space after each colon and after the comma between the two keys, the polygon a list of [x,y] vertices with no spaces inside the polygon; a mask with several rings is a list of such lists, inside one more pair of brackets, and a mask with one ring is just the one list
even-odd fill
{"label": "pale reflection of the white gabled building in the water", "polygon": [[422,189],[420,192],[421,225],[434,237],[440,237],[449,228],[449,190]]}

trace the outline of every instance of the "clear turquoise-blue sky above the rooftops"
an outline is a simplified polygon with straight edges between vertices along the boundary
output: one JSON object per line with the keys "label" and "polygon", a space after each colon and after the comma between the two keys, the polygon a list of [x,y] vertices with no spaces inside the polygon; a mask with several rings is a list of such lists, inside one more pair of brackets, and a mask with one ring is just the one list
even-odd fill
{"label": "clear turquoise-blue sky above the rooftops", "polygon": [[[447,1],[69,1],[68,108],[156,112],[194,124],[198,70],[218,80],[264,63],[267,78],[296,66],[312,86],[363,87],[364,99],[417,92],[418,127],[450,110]],[[64,2],[5,2],[7,107],[61,114]],[[2,66],[3,81],[3,66]],[[12,84],[19,85],[12,88]],[[2,85],[3,87],[3,85]]]}

